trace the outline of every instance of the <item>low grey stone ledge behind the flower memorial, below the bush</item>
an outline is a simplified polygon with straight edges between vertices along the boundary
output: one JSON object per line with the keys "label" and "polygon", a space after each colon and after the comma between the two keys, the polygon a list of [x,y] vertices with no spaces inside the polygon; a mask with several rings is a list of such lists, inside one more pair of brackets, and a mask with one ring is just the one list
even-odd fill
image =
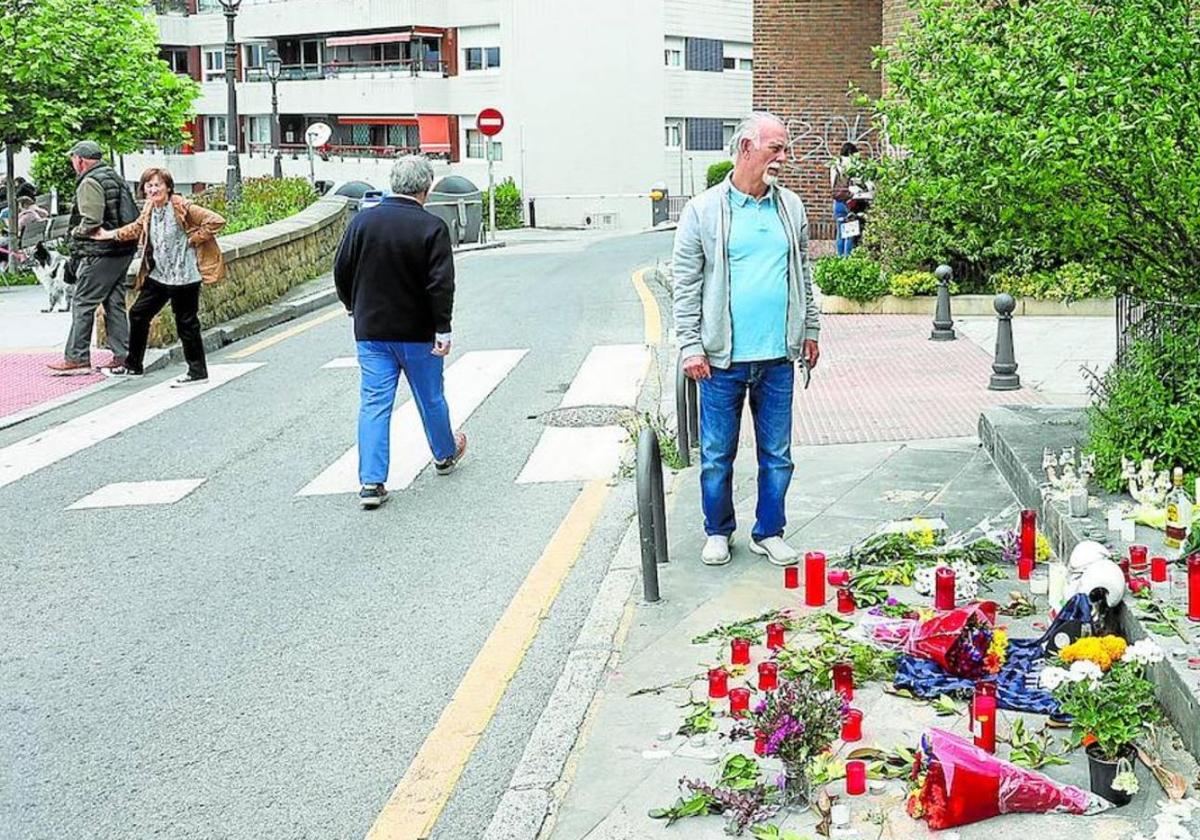
{"label": "low grey stone ledge behind the flower memorial, below the bush", "polygon": [[[1073,518],[1066,504],[1042,500],[1043,448],[1060,451],[1078,446],[1087,436],[1082,409],[1075,408],[989,408],[979,416],[979,440],[991,455],[996,468],[1026,508],[1042,511],[1040,527],[1055,545],[1058,556],[1069,557],[1084,540],[1105,542],[1108,524],[1104,511],[1117,500],[1100,494],[1100,508],[1092,508],[1087,518]],[[1160,547],[1160,546],[1159,546]],[[1156,546],[1151,545],[1154,550]],[[1164,553],[1156,551],[1154,553]],[[1152,637],[1168,652],[1166,659],[1151,666],[1151,679],[1159,703],[1180,733],[1183,748],[1200,758],[1200,674],[1188,671],[1184,659],[1170,655],[1187,650],[1178,638],[1154,636],[1142,626],[1132,610],[1121,610],[1122,629],[1130,641]]]}

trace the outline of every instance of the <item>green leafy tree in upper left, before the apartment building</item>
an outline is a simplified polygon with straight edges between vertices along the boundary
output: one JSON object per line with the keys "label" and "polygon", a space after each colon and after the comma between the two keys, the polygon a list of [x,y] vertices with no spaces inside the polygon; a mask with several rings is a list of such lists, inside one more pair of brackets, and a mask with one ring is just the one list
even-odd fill
{"label": "green leafy tree in upper left, before the apartment building", "polygon": [[199,95],[158,58],[142,0],[0,0],[0,140],[28,146],[89,138],[112,152],[175,144]]}

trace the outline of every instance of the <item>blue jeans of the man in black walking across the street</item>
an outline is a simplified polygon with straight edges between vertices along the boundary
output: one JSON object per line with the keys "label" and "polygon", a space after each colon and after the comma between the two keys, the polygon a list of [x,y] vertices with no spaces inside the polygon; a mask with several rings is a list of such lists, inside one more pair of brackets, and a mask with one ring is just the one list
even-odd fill
{"label": "blue jeans of the man in black walking across the street", "polygon": [[408,377],[416,412],[436,461],[454,456],[454,431],[442,382],[442,356],[432,342],[360,341],[359,480],[384,484],[391,457],[391,408],[401,372]]}

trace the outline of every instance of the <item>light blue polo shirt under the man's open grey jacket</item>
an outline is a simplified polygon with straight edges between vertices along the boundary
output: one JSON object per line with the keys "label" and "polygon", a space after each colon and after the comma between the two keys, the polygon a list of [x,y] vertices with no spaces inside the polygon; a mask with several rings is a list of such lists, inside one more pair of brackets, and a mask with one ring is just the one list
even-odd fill
{"label": "light blue polo shirt under the man's open grey jacket", "polygon": [[774,190],[755,199],[730,186],[730,313],[733,361],[787,355],[787,252]]}

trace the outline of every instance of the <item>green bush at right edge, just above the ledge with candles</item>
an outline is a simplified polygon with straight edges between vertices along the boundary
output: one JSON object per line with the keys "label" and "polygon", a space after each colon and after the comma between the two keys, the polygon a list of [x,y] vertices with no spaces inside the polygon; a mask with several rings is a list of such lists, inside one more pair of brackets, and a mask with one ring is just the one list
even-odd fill
{"label": "green bush at right edge, just above the ledge with candles", "polygon": [[1121,364],[1093,383],[1087,409],[1096,478],[1121,488],[1121,458],[1200,473],[1200,320],[1178,319],[1159,343],[1136,341]]}

